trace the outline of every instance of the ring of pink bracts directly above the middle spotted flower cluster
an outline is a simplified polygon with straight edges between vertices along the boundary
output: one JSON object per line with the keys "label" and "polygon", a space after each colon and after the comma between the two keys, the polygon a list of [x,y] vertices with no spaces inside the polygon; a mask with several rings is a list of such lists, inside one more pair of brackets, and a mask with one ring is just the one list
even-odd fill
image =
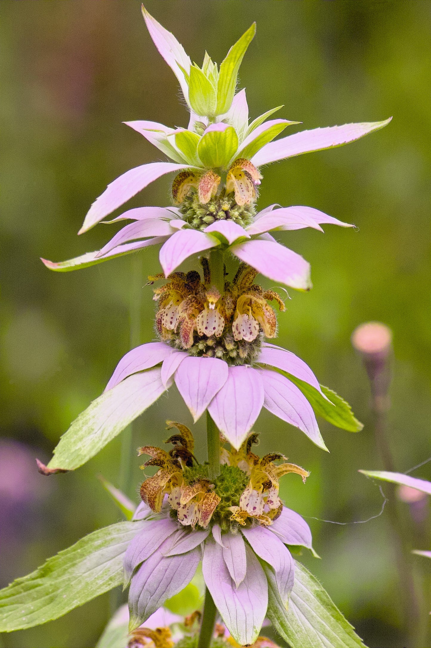
{"label": "ring of pink bracts directly above the middle spotted flower cluster", "polygon": [[313,207],[271,205],[259,212],[255,221],[242,227],[230,220],[217,220],[204,231],[193,229],[180,218],[175,208],[141,207],[131,209],[116,220],[130,219],[100,250],[62,263],[43,260],[51,270],[67,271],[100,263],[114,256],[128,254],[162,243],[159,260],[167,277],[192,255],[212,248],[229,251],[269,279],[298,290],[311,287],[310,264],[269,235],[270,231],[289,231],[321,224],[352,227]]}

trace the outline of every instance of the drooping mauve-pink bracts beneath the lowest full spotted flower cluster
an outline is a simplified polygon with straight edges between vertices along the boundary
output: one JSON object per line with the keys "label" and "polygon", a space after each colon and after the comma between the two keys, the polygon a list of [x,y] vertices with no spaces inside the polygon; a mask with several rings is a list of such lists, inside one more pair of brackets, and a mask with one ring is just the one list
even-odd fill
{"label": "drooping mauve-pink bracts beneath the lowest full spotted flower cluster", "polygon": [[125,585],[131,584],[131,630],[189,583],[202,559],[205,584],[227,629],[241,645],[253,643],[268,606],[268,582],[259,559],[271,566],[279,596],[287,605],[295,565],[286,544],[313,551],[308,524],[286,507],[271,526],[241,528],[235,535],[222,533],[216,524],[212,532],[187,532],[167,516],[167,508],[154,516],[145,503],[134,515],[148,522],[124,557]]}

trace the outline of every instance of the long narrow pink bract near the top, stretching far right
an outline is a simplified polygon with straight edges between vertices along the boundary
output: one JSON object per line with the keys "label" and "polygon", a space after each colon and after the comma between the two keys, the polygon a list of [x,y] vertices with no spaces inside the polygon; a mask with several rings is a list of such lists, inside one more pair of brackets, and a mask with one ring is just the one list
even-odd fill
{"label": "long narrow pink bract near the top, stretching far right", "polygon": [[341,146],[353,142],[373,130],[379,130],[391,121],[392,117],[381,122],[364,122],[361,124],[344,124],[343,126],[328,126],[303,130],[288,137],[282,137],[275,142],[265,145],[251,161],[256,167],[285,157],[299,156],[301,153],[320,151],[324,148]]}

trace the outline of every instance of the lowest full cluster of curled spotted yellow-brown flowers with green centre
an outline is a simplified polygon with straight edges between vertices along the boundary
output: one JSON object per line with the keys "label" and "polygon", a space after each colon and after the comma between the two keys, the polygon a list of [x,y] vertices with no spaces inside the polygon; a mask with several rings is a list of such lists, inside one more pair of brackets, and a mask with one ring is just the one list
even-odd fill
{"label": "lowest full cluster of curled spotted yellow-brown flowers with green centre", "polygon": [[258,435],[251,432],[239,450],[227,449],[222,437],[220,475],[211,480],[208,463],[198,463],[193,455],[194,440],[189,428],[167,421],[167,429],[173,427],[178,434],[165,441],[173,444],[169,452],[154,446],[139,449],[139,455],[151,456],[142,469],[159,467],[154,476],[143,481],[140,494],[154,513],[162,511],[166,500],[171,517],[183,526],[206,529],[209,524],[218,524],[222,531],[233,533],[238,532],[238,526],[270,526],[283,508],[279,498],[280,477],[295,472],[305,483],[309,476],[277,452],[259,458],[251,451],[253,444],[258,443]]}

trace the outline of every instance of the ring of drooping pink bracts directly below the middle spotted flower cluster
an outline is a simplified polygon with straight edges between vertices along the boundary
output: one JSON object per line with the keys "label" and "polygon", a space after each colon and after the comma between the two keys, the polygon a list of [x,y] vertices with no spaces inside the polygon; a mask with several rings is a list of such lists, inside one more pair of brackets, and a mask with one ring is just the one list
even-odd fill
{"label": "ring of drooping pink bracts directly below the middle spotted flower cluster", "polygon": [[[160,362],[160,369],[152,369]],[[293,382],[277,371],[304,380],[321,392],[310,367],[289,351],[264,343],[256,366],[232,367],[218,358],[197,358],[163,342],[150,342],[123,356],[105,393],[128,376],[147,369],[155,372],[154,380],[162,381],[165,389],[175,382],[195,422],[208,410],[234,448],[241,446],[264,407],[327,450],[310,403]]]}

